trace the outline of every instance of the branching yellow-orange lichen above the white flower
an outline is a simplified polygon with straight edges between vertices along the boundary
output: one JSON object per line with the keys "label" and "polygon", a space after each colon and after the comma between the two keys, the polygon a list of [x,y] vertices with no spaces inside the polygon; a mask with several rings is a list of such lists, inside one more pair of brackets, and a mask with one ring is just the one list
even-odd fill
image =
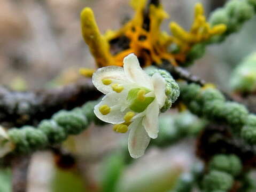
{"label": "branching yellow-orange lichen above the white flower", "polygon": [[[216,25],[213,28],[207,23],[204,9],[201,4],[195,6],[195,19],[189,32],[182,29],[177,23],[170,23],[173,36],[160,31],[162,20],[168,14],[161,5],[147,5],[146,0],[131,0],[135,16],[117,31],[108,30],[104,35],[99,33],[92,10],[86,7],[81,13],[82,34],[98,67],[122,66],[123,58],[129,53],[137,55],[141,65],[159,65],[167,60],[172,65],[184,62],[191,47],[196,43],[204,42],[213,35],[222,34],[225,25]],[[115,45],[122,39],[125,43]],[[178,49],[170,51],[175,45]]]}

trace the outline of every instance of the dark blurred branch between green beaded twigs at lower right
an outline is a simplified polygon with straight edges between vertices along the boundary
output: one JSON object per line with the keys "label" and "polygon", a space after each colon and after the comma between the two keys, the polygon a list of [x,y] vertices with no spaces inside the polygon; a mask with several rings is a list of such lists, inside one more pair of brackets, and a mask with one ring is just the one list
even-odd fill
{"label": "dark blurred branch between green beaded twigs at lower right", "polygon": [[198,137],[197,155],[207,162],[214,155],[222,153],[236,154],[245,167],[256,167],[255,146],[235,137],[228,125],[211,123]]}

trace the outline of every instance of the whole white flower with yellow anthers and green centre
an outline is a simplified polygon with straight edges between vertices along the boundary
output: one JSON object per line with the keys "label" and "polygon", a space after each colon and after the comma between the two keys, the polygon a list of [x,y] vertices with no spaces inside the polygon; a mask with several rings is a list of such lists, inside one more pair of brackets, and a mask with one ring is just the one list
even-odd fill
{"label": "whole white flower with yellow anthers and green centre", "polygon": [[106,94],[94,113],[102,121],[115,124],[114,131],[130,130],[129,153],[138,158],[145,153],[150,138],[157,138],[159,110],[166,100],[166,81],[159,73],[152,77],[146,74],[134,54],[125,57],[123,63],[123,68],[103,67],[92,76],[95,87]]}

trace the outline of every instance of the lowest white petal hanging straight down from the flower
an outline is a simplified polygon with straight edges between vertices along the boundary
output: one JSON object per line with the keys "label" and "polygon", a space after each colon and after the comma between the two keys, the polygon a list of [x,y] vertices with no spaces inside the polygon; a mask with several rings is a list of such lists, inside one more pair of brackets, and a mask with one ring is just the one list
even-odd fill
{"label": "lowest white petal hanging straight down from the flower", "polygon": [[142,119],[138,118],[129,126],[128,150],[130,156],[138,158],[144,155],[149,145],[150,137],[142,126]]}

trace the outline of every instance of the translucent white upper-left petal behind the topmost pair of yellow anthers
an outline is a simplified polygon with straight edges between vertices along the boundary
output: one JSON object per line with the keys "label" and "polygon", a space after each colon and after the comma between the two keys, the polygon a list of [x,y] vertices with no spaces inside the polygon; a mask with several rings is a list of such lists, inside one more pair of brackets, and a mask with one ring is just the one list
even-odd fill
{"label": "translucent white upper-left petal behind the topmost pair of yellow anthers", "polygon": [[122,67],[107,66],[99,68],[92,75],[92,83],[102,93],[107,94],[113,92],[111,85],[104,85],[103,79],[111,79],[114,83],[126,84],[127,78]]}

